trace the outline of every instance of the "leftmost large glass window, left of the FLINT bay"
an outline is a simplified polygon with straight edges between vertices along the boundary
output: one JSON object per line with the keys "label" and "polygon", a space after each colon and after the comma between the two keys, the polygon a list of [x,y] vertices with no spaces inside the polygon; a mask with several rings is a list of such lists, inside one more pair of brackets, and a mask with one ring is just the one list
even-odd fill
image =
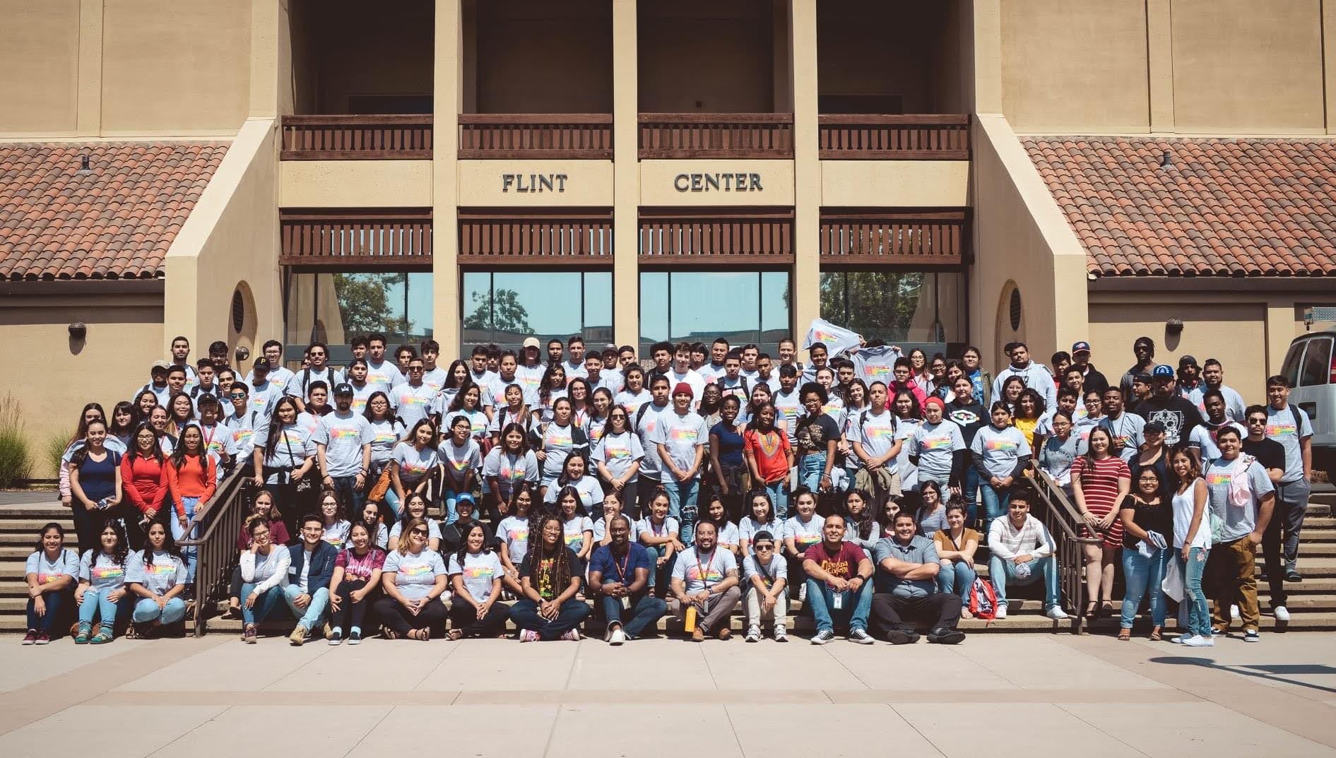
{"label": "leftmost large glass window, left of the FLINT bay", "polygon": [[432,336],[432,273],[290,274],[287,282],[287,349],[301,365],[313,341],[330,346],[331,362],[351,357],[357,336],[385,334],[390,348]]}

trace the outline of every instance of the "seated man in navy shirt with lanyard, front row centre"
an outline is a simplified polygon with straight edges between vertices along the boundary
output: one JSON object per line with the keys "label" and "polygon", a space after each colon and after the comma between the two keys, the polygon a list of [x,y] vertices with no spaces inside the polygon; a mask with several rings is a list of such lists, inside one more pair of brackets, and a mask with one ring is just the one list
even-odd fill
{"label": "seated man in navy shirt with lanyard, front row centre", "polygon": [[621,644],[653,626],[668,611],[668,603],[648,592],[653,561],[649,551],[631,541],[631,519],[613,516],[608,535],[612,541],[599,545],[589,561],[589,591],[603,603],[608,644]]}

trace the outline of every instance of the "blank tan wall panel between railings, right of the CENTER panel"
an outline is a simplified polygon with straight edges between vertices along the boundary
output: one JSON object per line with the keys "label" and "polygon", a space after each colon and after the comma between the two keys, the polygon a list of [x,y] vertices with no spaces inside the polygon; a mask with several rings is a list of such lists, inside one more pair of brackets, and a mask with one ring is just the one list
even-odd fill
{"label": "blank tan wall panel between railings, right of the CENTER panel", "polygon": [[822,160],[823,206],[963,207],[969,160]]}

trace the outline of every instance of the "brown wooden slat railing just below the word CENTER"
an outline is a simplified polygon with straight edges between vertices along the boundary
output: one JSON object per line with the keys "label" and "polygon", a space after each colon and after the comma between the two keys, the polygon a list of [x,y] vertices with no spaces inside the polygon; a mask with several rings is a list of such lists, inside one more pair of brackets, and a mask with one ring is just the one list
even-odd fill
{"label": "brown wooden slat railing just below the word CENTER", "polygon": [[794,262],[791,209],[640,209],[641,263]]}

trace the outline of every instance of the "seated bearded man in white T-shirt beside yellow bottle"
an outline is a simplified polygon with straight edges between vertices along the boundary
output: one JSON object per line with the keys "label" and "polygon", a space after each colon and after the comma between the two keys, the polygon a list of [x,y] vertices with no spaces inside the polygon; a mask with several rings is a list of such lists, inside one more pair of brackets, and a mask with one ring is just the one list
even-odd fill
{"label": "seated bearded man in white T-shirt beside yellow bottle", "polygon": [[728,618],[741,598],[737,588],[737,560],[733,553],[719,548],[719,533],[712,521],[696,524],[696,545],[677,555],[672,567],[672,596],[668,610],[679,620],[687,620],[688,608],[695,608],[696,628],[692,642],[704,642],[715,634],[728,639]]}

